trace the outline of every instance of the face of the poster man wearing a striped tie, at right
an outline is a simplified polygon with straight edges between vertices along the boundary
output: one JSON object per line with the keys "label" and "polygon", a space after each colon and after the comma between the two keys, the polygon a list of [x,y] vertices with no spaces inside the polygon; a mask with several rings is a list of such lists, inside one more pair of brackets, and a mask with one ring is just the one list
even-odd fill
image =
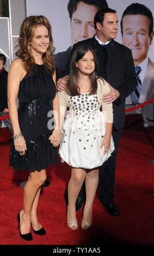
{"label": "face of the poster man wearing a striped tie, at right", "polygon": [[138,65],[147,57],[152,44],[153,32],[149,36],[150,20],[144,15],[126,15],[122,22],[122,44],[132,50],[134,64]]}

